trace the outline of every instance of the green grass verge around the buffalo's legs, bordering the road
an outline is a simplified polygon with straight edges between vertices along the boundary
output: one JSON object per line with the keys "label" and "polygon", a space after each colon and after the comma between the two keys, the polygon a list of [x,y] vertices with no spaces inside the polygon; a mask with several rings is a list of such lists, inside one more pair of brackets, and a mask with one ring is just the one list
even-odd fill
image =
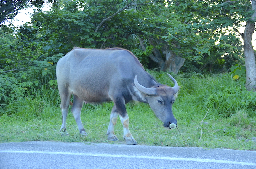
{"label": "green grass verge around the buffalo's legs, bordering the road", "polygon": [[[155,71],[150,73],[161,83],[173,85],[166,73]],[[138,144],[256,150],[256,142],[251,141],[252,137],[256,137],[255,106],[250,104],[250,98],[241,101],[248,93],[240,87],[239,90],[237,89],[238,85],[244,85],[244,79],[233,81],[229,74],[207,77],[200,74],[176,75],[175,78],[181,86],[179,97],[173,106],[180,132],[177,128],[165,129],[149,105],[131,102],[126,105],[130,118],[129,128]],[[232,92],[225,96],[229,89]],[[212,99],[214,93],[217,94],[220,103]],[[254,93],[250,94],[254,96]],[[230,104],[231,101],[234,105]],[[58,105],[54,105],[55,102]],[[33,99],[31,97],[12,99],[0,110],[0,142],[38,140],[109,142],[106,131],[112,102],[84,105],[81,118],[89,134],[87,137],[80,137],[70,111],[67,119],[69,136],[60,136],[62,117],[59,102],[58,91],[46,88],[38,92]],[[242,102],[248,103],[246,105]],[[218,107],[215,107],[216,105]],[[208,124],[202,123],[202,120]],[[119,138],[117,143],[124,143],[120,120],[117,122],[115,132]]]}

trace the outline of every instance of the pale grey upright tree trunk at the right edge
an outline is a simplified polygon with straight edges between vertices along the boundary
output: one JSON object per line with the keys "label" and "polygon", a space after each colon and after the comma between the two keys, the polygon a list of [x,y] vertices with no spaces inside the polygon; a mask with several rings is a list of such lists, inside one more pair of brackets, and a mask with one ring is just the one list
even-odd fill
{"label": "pale grey upright tree trunk at the right edge", "polygon": [[242,38],[244,39],[244,55],[246,68],[246,89],[256,91],[256,65],[254,49],[252,46],[252,33],[255,30],[256,2],[252,1],[252,9],[255,11],[251,20],[246,22],[246,27]]}

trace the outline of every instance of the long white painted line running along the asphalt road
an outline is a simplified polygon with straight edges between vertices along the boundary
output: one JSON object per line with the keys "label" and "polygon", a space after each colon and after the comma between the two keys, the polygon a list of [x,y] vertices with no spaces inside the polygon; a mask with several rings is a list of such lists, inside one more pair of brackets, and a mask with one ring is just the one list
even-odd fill
{"label": "long white painted line running along the asphalt road", "polygon": [[113,155],[113,154],[91,154],[91,153],[70,153],[70,152],[49,152],[49,151],[16,151],[16,150],[0,150],[0,153],[31,153],[31,154],[60,154],[60,155],[75,155],[75,156],[96,156],[96,157],[115,157],[115,158],[143,158],[143,159],[160,159],[160,160],[175,160],[175,161],[191,161],[191,162],[210,162],[210,163],[223,163],[235,165],[249,165],[256,166],[256,163],[215,160],[215,159],[202,159],[202,158],[176,158],[176,157],[163,157],[163,156],[129,156],[129,155]]}

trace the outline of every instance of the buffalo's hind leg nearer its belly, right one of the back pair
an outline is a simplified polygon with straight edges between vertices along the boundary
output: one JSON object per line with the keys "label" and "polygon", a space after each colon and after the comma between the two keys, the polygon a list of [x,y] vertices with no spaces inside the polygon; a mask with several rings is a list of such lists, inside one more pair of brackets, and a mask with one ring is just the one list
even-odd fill
{"label": "buffalo's hind leg nearer its belly, right one of the back pair", "polygon": [[81,100],[76,95],[73,95],[73,97],[74,97],[74,102],[71,108],[71,112],[76,120],[76,124],[78,125],[78,129],[81,136],[87,136],[87,133],[85,132],[85,129],[84,129],[84,125],[82,124],[82,120],[81,120],[81,109],[82,109],[82,105],[84,104],[84,101]]}

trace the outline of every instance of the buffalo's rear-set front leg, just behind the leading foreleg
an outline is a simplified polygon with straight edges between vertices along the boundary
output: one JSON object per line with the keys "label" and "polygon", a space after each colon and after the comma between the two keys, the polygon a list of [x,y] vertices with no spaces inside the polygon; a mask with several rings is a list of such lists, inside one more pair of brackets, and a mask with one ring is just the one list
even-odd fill
{"label": "buffalo's rear-set front leg, just behind the leading foreleg", "polygon": [[110,114],[110,123],[108,125],[108,130],[107,130],[109,141],[118,141],[118,138],[114,133],[114,126],[116,125],[117,117],[118,117],[118,112],[116,109],[116,105],[114,105]]}

